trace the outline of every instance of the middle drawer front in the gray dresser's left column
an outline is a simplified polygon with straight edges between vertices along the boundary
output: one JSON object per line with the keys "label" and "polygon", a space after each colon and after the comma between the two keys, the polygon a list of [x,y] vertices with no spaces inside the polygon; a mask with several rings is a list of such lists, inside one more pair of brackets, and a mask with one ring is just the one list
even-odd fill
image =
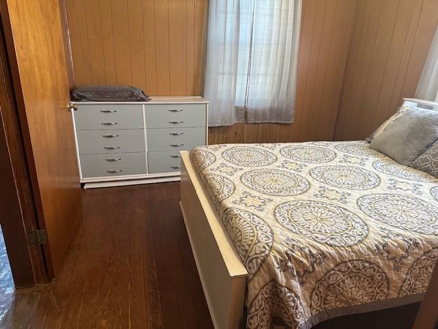
{"label": "middle drawer front in the gray dresser's left column", "polygon": [[79,154],[144,152],[144,130],[79,130]]}

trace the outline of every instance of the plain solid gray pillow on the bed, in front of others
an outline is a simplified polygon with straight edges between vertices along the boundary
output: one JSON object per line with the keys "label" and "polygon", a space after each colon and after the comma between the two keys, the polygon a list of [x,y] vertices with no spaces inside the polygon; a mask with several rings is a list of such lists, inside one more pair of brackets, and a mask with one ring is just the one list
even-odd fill
{"label": "plain solid gray pillow on the bed, in front of others", "polygon": [[438,112],[409,108],[381,134],[374,136],[370,147],[409,166],[437,139]]}

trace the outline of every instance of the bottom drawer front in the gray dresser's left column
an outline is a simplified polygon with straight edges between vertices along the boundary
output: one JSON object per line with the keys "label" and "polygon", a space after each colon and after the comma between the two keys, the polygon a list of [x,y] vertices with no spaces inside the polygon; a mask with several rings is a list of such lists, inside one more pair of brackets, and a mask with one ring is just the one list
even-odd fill
{"label": "bottom drawer front in the gray dresser's left column", "polygon": [[138,175],[146,173],[146,154],[115,153],[80,156],[83,178]]}

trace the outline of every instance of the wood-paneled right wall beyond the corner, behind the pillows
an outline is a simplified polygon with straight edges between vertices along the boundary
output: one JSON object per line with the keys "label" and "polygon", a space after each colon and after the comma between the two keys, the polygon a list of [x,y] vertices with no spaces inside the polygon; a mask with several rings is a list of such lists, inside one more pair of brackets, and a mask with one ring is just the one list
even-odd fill
{"label": "wood-paneled right wall beyond the corner, behind the pillows", "polygon": [[369,136],[414,96],[437,8],[438,0],[359,1],[335,139]]}

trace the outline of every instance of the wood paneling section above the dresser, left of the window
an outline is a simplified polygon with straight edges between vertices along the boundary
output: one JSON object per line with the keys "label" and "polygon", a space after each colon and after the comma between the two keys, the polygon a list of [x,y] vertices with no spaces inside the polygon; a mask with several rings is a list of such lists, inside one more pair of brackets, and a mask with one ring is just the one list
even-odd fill
{"label": "wood paneling section above the dresser, left of the window", "polygon": [[201,95],[206,0],[66,0],[76,86]]}

